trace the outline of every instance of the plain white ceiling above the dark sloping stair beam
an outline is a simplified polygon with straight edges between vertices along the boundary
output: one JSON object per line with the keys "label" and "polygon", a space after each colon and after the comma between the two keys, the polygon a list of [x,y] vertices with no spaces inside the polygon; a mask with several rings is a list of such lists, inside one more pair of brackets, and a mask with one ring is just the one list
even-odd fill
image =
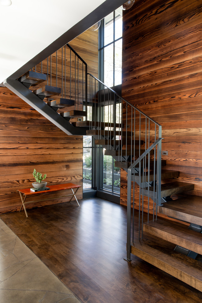
{"label": "plain white ceiling above the dark sloping stair beam", "polygon": [[12,0],[0,6],[0,83],[103,2]]}

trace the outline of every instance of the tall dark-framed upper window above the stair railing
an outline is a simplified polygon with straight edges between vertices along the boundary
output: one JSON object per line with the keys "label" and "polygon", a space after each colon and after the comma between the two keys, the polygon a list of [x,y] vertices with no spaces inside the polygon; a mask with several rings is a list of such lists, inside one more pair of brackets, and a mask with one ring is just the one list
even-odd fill
{"label": "tall dark-framed upper window above the stair railing", "polygon": [[110,13],[101,22],[100,79],[109,87],[122,83],[122,9]]}

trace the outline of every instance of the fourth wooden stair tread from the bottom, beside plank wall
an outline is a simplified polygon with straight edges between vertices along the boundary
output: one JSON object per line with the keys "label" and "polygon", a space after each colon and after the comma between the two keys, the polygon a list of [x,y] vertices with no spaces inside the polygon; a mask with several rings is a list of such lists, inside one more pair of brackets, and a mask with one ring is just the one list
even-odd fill
{"label": "fourth wooden stair tread from the bottom, beside plank wall", "polygon": [[[194,185],[191,183],[184,183],[184,182],[171,182],[166,184],[161,184],[161,197],[167,197],[178,193],[183,193],[189,190],[192,190]],[[149,196],[153,197],[154,188],[151,186],[149,188]],[[156,193],[156,188],[155,188]],[[144,195],[148,196],[148,189],[144,189]]]}

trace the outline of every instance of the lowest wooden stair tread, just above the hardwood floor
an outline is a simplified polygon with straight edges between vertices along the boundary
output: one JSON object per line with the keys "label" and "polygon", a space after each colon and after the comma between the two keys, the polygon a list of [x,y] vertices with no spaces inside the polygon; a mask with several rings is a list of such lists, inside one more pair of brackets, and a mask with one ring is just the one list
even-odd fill
{"label": "lowest wooden stair tread, just above the hardwood floor", "polygon": [[131,252],[168,274],[202,291],[202,263],[173,251],[172,243],[144,233],[144,239],[135,240]]}

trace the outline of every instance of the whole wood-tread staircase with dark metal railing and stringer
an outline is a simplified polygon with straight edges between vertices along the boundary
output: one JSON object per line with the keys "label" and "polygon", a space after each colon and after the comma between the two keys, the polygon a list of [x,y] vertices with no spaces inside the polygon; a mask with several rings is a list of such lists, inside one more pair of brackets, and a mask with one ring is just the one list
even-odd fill
{"label": "whole wood-tread staircase with dark metal railing and stringer", "polygon": [[5,86],[68,135],[93,136],[128,174],[125,260],[132,253],[202,291],[202,199],[161,160],[161,125],[88,74],[68,44],[33,69]]}

